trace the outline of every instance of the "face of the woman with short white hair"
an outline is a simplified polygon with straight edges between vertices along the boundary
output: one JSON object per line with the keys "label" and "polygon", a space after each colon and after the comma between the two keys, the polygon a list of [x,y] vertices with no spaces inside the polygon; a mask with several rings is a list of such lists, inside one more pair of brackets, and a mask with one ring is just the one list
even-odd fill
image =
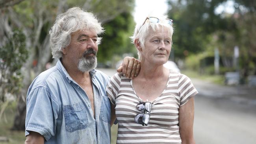
{"label": "face of the woman with short white hair", "polygon": [[158,28],[156,33],[152,30],[145,39],[144,48],[141,50],[141,60],[157,65],[163,65],[169,59],[172,38],[168,35],[167,28]]}

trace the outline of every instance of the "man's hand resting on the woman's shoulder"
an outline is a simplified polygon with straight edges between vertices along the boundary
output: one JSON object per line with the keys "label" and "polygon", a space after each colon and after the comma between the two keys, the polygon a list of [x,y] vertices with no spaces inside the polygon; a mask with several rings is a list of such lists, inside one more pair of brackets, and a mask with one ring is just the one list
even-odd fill
{"label": "man's hand resting on the woman's shoulder", "polygon": [[134,57],[124,57],[124,60],[117,69],[117,72],[122,72],[122,75],[126,76],[126,78],[133,79],[134,76],[139,74],[140,68],[141,61],[135,59]]}

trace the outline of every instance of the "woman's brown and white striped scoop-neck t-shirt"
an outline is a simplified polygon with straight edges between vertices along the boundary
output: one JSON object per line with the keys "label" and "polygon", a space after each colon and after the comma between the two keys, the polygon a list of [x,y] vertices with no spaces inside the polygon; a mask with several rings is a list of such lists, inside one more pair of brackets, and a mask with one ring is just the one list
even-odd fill
{"label": "woman's brown and white striped scoop-neck t-shirt", "polygon": [[165,90],[154,100],[148,126],[134,122],[140,113],[136,105],[142,102],[133,89],[132,80],[115,74],[106,88],[115,105],[118,120],[117,144],[180,144],[179,107],[198,92],[184,74],[170,70]]}

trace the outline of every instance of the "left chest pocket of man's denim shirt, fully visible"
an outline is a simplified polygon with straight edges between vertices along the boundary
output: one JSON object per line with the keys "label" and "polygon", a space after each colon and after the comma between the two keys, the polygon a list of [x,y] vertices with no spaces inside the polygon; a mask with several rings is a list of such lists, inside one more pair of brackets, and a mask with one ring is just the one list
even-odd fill
{"label": "left chest pocket of man's denim shirt, fully visible", "polygon": [[72,133],[88,126],[88,116],[83,102],[63,105],[63,113],[66,131]]}

